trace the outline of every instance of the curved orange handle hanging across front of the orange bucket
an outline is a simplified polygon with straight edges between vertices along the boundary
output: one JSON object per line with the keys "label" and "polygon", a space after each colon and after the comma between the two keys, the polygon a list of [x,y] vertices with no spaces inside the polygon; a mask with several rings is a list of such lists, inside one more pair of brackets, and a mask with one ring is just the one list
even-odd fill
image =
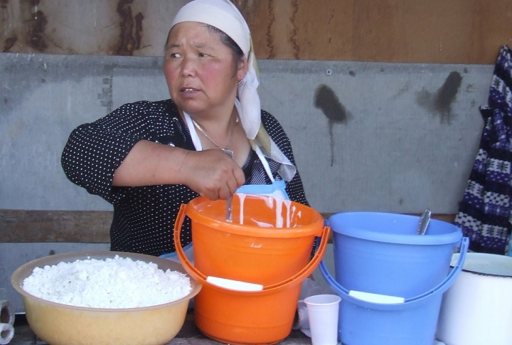
{"label": "curved orange handle hanging across front of the orange bucket", "polygon": [[[176,254],[178,255],[179,260],[183,264],[183,268],[190,274],[195,280],[198,280],[198,282],[201,282],[201,284],[211,285],[212,287],[225,290],[223,287],[218,287],[218,285],[210,284],[210,282],[207,282],[206,276],[203,275],[203,273],[199,272],[196,267],[194,267],[190,261],[188,261],[188,258],[185,255],[185,252],[183,252],[183,247],[181,246],[181,225],[183,225],[183,220],[185,218],[185,207],[186,204],[182,203],[180,206],[180,209],[178,211],[178,216],[176,218],[176,223],[174,223],[174,246],[176,248]],[[321,242],[316,250],[316,253],[314,254],[313,258],[308,262],[308,264],[300,270],[297,274],[293,275],[292,277],[287,278],[286,280],[283,280],[282,282],[279,282],[277,284],[268,285],[266,287],[263,287],[262,291],[256,291],[256,292],[244,292],[244,293],[267,293],[273,290],[280,289],[286,285],[291,284],[292,282],[298,281],[302,282],[307,276],[311,275],[313,271],[316,269],[316,267],[319,265],[321,259],[324,257],[325,250],[327,248],[327,243],[329,242],[329,233],[331,232],[331,228],[329,226],[324,226],[324,230],[321,234]],[[229,290],[229,289],[228,289]],[[233,290],[236,291],[236,290]]]}

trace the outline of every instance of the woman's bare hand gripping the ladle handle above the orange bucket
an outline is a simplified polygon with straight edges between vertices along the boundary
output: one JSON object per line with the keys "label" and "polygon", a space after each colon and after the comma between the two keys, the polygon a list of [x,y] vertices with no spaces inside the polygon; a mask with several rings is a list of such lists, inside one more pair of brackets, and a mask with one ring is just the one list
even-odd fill
{"label": "woman's bare hand gripping the ladle handle above the orange bucket", "polygon": [[245,182],[240,166],[218,149],[188,151],[180,171],[183,184],[210,200],[233,196]]}

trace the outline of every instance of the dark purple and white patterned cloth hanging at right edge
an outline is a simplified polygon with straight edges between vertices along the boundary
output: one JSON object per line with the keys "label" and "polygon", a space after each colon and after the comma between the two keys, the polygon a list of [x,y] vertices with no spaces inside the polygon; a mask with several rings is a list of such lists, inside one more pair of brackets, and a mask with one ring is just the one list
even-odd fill
{"label": "dark purple and white patterned cloth hanging at right edge", "polygon": [[505,254],[512,211],[512,52],[503,46],[494,67],[488,104],[480,107],[485,126],[455,225],[469,237],[469,249]]}

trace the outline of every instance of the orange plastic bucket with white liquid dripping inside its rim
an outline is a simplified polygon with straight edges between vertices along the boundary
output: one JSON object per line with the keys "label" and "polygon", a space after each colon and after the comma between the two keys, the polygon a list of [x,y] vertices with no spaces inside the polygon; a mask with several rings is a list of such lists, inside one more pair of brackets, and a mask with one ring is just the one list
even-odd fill
{"label": "orange plastic bucket with white liquid dripping inside its rim", "polygon": [[[179,240],[185,216],[192,221],[195,266]],[[194,302],[197,327],[229,344],[282,341],[292,330],[302,281],[324,256],[329,232],[320,213],[293,201],[236,195],[233,222],[225,221],[225,201],[199,197],[181,205],[174,241],[183,267],[203,285]],[[319,236],[319,247],[309,260]],[[263,287],[231,290],[208,282],[208,276]]]}

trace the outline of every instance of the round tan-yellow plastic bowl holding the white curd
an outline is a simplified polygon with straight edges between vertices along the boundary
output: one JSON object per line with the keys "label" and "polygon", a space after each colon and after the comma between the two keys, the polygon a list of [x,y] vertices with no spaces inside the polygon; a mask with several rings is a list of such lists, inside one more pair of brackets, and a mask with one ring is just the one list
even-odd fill
{"label": "round tan-yellow plastic bowl holding the white curd", "polygon": [[201,290],[201,285],[193,278],[191,293],[181,299],[152,307],[127,309],[74,307],[46,301],[21,288],[23,280],[36,267],[89,258],[105,260],[115,255],[154,262],[161,270],[170,269],[186,274],[178,262],[135,253],[94,251],[33,260],[18,267],[11,276],[11,284],[23,297],[26,317],[33,332],[52,345],[162,345],[171,341],[183,327],[188,302]]}

